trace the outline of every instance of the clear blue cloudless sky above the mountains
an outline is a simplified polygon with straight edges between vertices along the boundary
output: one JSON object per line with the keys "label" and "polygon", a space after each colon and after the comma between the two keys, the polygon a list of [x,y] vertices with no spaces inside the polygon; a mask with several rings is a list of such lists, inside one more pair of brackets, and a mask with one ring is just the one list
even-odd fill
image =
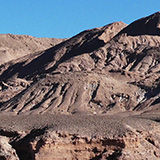
{"label": "clear blue cloudless sky above the mountains", "polygon": [[160,10],[160,0],[0,0],[0,33],[68,38]]}

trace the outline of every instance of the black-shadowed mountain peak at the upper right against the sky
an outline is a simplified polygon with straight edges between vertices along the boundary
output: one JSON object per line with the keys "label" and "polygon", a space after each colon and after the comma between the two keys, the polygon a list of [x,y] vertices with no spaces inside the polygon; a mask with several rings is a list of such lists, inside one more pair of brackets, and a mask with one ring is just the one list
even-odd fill
{"label": "black-shadowed mountain peak at the upper right against the sky", "polygon": [[130,36],[157,35],[160,36],[160,12],[134,21],[120,33],[127,33]]}

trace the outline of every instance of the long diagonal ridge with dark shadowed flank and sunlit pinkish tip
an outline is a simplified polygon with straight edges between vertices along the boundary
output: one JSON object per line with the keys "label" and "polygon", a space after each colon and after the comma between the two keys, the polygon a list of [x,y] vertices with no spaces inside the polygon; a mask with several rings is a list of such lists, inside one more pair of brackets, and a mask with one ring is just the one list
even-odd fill
{"label": "long diagonal ridge with dark shadowed flank and sunlit pinkish tip", "polygon": [[[15,62],[11,62],[1,66],[1,71],[6,70],[6,74],[1,72],[0,79],[5,80],[18,74],[20,78],[33,77],[43,72],[51,72],[56,67],[72,57],[82,55],[84,53],[93,52],[95,49],[103,47],[106,41],[112,39],[126,24],[123,22],[115,22],[101,28],[95,28],[84,31],[73,38],[56,45],[44,52],[35,55],[22,57]],[[110,34],[108,35],[108,32]],[[105,42],[104,42],[105,41]],[[17,64],[19,67],[14,68]],[[5,69],[3,69],[3,67]],[[10,72],[12,70],[12,72]],[[10,74],[11,73],[11,74]]]}

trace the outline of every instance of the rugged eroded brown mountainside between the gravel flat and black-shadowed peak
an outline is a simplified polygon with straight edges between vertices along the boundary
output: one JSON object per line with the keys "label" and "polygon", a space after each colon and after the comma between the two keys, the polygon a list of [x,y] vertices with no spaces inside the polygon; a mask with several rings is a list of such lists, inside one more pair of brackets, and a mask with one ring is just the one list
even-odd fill
{"label": "rugged eroded brown mountainside between the gravel flat and black-shadowed peak", "polygon": [[[160,37],[118,34],[125,26],[118,22],[84,31],[2,66],[1,110],[103,114],[135,110],[156,100],[158,93],[151,97],[149,92],[159,84]],[[8,89],[3,90],[4,84]]]}

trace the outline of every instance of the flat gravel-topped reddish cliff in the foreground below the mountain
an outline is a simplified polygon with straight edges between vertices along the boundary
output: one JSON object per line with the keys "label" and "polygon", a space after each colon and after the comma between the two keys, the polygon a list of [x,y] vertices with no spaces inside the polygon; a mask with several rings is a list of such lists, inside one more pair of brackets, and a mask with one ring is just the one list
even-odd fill
{"label": "flat gravel-topped reddish cliff in the foreground below the mountain", "polygon": [[4,117],[7,116],[0,118],[3,128],[0,156],[4,159],[160,158],[160,126],[155,117],[52,114]]}

